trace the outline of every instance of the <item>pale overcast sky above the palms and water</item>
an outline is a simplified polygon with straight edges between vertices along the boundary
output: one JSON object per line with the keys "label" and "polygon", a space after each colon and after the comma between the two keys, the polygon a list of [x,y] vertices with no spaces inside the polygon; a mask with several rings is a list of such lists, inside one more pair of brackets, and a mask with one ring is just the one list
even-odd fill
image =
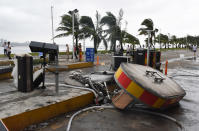
{"label": "pale overcast sky above the palms and water", "polygon": [[[107,11],[118,16],[122,8],[124,21],[128,22],[127,31],[135,36],[146,18],[151,18],[155,27],[165,34],[199,35],[198,0],[0,0],[0,38],[16,42],[51,42],[51,5],[54,7],[55,29],[59,26],[60,16],[75,8],[80,16],[93,18],[96,10],[102,16]],[[70,44],[72,37],[55,41]]]}

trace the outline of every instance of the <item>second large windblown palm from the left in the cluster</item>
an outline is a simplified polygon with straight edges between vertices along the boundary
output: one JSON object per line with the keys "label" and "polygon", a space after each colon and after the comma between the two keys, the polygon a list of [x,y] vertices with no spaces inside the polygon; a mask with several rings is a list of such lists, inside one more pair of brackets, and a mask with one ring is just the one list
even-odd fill
{"label": "second large windblown palm from the left in the cluster", "polygon": [[86,38],[91,37],[94,44],[95,53],[97,53],[97,48],[101,41],[104,42],[104,46],[107,49],[107,42],[102,35],[102,26],[100,25],[100,14],[96,11],[96,25],[89,16],[82,16],[80,19],[80,24],[82,26],[81,32],[85,35]]}

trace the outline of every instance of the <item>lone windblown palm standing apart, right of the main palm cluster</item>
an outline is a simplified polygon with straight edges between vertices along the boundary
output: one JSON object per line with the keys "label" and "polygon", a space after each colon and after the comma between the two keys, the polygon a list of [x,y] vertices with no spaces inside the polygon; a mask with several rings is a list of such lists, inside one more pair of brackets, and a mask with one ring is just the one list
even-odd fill
{"label": "lone windblown palm standing apart, right of the main palm cluster", "polygon": [[[152,44],[153,38],[154,38],[154,46],[155,46],[155,33],[158,32],[158,29],[154,29],[154,24],[153,21],[148,18],[145,19],[141,25],[145,26],[143,28],[140,28],[138,31],[140,32],[139,35],[148,35],[147,30],[151,30],[151,35],[150,35],[150,43]],[[146,46],[148,47],[148,41],[146,42]]]}

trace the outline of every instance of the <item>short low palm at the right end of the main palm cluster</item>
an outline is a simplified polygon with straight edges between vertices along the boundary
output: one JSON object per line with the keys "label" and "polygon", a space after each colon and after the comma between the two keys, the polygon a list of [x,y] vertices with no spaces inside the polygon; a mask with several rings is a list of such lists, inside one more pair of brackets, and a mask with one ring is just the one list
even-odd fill
{"label": "short low palm at the right end of the main palm cluster", "polygon": [[129,43],[133,45],[133,50],[135,49],[135,45],[140,45],[140,41],[135,36],[127,33],[126,31],[122,31],[123,43]]}

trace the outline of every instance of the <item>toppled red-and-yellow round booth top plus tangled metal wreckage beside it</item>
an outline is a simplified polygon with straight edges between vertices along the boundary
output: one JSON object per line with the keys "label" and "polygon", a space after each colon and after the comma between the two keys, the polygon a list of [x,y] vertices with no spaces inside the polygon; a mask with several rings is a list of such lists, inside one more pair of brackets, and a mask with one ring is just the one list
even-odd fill
{"label": "toppled red-and-yellow round booth top plus tangled metal wreckage beside it", "polygon": [[113,103],[119,109],[138,103],[149,108],[165,109],[177,104],[186,94],[160,71],[138,64],[122,63],[115,73],[103,71],[83,75],[72,72],[70,78],[93,89],[101,104]]}

